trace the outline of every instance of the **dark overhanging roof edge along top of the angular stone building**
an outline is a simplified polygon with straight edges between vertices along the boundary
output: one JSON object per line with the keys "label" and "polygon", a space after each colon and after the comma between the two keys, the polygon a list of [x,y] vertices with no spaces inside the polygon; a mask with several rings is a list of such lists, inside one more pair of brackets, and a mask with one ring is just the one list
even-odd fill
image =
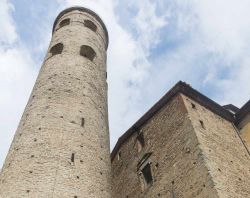
{"label": "dark overhanging roof edge along top of the angular stone building", "polygon": [[234,122],[234,115],[228,110],[224,109],[221,105],[193,89],[185,82],[179,81],[170,91],[168,91],[153,107],[151,107],[132,127],[130,127],[117,141],[114,149],[111,152],[111,161],[120,149],[121,145],[131,136],[134,132],[144,125],[152,116],[154,116],[164,105],[166,105],[175,95],[182,93],[192,100],[198,102],[202,106],[211,110],[215,114],[220,115],[224,119]]}

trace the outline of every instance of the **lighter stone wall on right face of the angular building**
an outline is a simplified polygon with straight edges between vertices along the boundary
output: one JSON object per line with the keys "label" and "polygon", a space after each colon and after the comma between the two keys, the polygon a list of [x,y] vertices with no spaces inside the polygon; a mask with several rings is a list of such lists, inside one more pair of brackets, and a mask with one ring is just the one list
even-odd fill
{"label": "lighter stone wall on right face of the angular building", "polygon": [[250,156],[238,130],[231,122],[183,97],[219,197],[249,197]]}

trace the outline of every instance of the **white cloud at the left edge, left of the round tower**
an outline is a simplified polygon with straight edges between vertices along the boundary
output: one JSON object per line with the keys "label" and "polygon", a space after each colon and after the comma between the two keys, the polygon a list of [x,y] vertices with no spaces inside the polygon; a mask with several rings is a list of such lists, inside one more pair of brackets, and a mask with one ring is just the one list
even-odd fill
{"label": "white cloud at the left edge, left of the round tower", "polygon": [[30,53],[20,42],[8,1],[0,2],[0,167],[9,149],[33,87],[36,72]]}

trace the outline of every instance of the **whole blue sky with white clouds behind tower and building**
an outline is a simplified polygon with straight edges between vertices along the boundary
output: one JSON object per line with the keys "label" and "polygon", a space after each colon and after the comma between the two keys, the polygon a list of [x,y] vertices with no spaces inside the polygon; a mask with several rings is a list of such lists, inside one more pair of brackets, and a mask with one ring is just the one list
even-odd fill
{"label": "whole blue sky with white clouds behind tower and building", "polygon": [[250,0],[0,0],[0,167],[57,14],[105,22],[111,147],[179,80],[220,104],[250,99]]}

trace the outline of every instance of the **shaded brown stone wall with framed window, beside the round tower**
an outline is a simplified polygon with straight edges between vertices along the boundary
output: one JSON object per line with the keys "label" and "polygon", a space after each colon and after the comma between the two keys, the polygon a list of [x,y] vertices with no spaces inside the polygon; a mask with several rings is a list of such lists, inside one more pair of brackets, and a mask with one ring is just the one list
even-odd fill
{"label": "shaded brown stone wall with framed window, beside the round tower", "polygon": [[[145,139],[141,151],[137,132]],[[146,185],[137,167],[146,153],[152,153],[147,159],[153,175],[151,185]],[[112,161],[112,197],[219,197],[183,96],[174,97],[120,147]]]}

